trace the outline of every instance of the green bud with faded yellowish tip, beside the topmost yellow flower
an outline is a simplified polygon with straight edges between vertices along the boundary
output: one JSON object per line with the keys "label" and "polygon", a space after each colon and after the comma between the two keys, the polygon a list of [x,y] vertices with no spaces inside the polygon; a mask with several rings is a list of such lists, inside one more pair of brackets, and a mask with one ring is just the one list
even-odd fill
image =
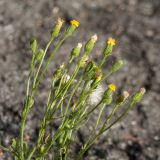
{"label": "green bud with faded yellowish tip, beside the topmost yellow flower", "polygon": [[56,38],[59,35],[59,32],[62,28],[63,23],[64,23],[63,19],[58,18],[57,23],[55,24],[51,32],[52,37]]}

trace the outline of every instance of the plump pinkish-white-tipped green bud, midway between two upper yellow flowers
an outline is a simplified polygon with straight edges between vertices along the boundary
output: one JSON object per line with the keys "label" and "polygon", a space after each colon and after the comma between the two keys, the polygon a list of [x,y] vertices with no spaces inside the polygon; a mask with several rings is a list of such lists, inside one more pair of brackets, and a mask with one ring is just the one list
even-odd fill
{"label": "plump pinkish-white-tipped green bud, midway between two upper yellow flowers", "polygon": [[86,54],[89,54],[91,50],[93,49],[96,41],[97,41],[97,35],[91,37],[91,39],[86,43],[84,50],[86,51]]}

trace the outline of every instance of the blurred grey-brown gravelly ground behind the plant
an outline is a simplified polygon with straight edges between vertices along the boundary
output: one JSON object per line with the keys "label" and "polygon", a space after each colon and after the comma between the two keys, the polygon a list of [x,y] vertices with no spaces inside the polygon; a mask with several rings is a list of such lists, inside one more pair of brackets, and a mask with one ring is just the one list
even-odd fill
{"label": "blurred grey-brown gravelly ground behind the plant", "polygon": [[[57,19],[81,22],[78,31],[55,56],[27,121],[27,135],[37,134],[48,82],[73,46],[97,33],[92,57],[99,60],[109,36],[117,40],[113,56],[123,68],[108,81],[130,93],[147,89],[143,100],[86,154],[86,160],[160,160],[160,0],[0,0],[0,140],[9,145],[18,135],[25,81],[31,59],[29,40],[44,46]],[[81,137],[85,135],[80,132]],[[12,159],[4,154],[1,159]]]}

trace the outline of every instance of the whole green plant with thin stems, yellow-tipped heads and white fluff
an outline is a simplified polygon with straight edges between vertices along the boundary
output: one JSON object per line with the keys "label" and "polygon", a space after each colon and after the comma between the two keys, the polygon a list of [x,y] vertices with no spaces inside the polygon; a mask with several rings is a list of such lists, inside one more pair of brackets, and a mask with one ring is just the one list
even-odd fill
{"label": "whole green plant with thin stems, yellow-tipped heads and white fluff", "polygon": [[[58,18],[44,49],[39,48],[35,39],[30,42],[32,60],[26,87],[26,98],[21,113],[19,136],[12,140],[11,146],[8,148],[1,146],[2,150],[12,153],[17,160],[48,159],[48,154],[52,148],[55,152],[52,154],[52,159],[63,159],[64,157],[71,159],[72,157],[80,160],[96,139],[118,123],[145,93],[145,89],[141,88],[133,96],[130,96],[127,91],[118,94],[115,84],[106,84],[106,79],[122,67],[123,61],[117,60],[105,73],[103,65],[107,58],[112,55],[116,41],[110,37],[104,46],[99,61],[95,62],[90,56],[98,40],[95,34],[84,46],[78,43],[71,50],[67,62],[63,62],[59,68],[54,70],[45,112],[40,119],[36,142],[33,146],[25,142],[26,120],[31,109],[36,105],[34,99],[48,66],[58,49],[72,36],[80,23],[77,20],[71,20],[68,28],[63,34],[60,34],[63,25],[64,21]],[[61,37],[59,38],[59,36]],[[47,54],[55,39],[53,50]],[[74,67],[73,64],[75,64]],[[125,105],[123,107],[124,112],[122,114],[118,112],[120,115],[114,117],[114,113],[120,110],[123,105]],[[108,115],[104,112],[106,107],[111,108]],[[74,155],[71,152],[71,146],[75,143],[76,132],[83,125],[86,125],[95,110],[98,111],[98,115],[93,122],[93,130],[90,131],[88,138],[82,144],[78,155]],[[53,122],[56,123],[56,121],[59,124],[57,130],[54,134],[53,132],[48,134],[50,131],[48,126]],[[29,148],[30,146],[32,148]],[[1,156],[3,156],[3,152],[0,150]]]}

